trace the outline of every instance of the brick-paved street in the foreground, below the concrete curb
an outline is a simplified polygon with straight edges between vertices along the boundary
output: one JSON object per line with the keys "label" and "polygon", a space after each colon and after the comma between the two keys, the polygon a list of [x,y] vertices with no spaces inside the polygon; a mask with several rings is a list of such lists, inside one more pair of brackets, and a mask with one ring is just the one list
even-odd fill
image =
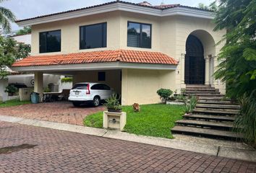
{"label": "brick-paved street in the foreground, below the concrete curb", "polygon": [[0,122],[0,172],[256,172],[256,163]]}

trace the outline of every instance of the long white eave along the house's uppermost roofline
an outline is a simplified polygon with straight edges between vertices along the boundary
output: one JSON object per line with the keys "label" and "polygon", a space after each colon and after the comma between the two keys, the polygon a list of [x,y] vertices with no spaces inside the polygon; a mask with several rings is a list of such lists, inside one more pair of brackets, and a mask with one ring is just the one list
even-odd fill
{"label": "long white eave along the house's uppermost roofline", "polygon": [[95,6],[93,8],[88,8],[88,9],[80,9],[72,12],[64,12],[59,14],[48,15],[45,17],[35,17],[32,19],[24,19],[24,20],[17,21],[16,23],[20,27],[25,27],[30,25],[56,22],[64,19],[85,17],[93,14],[101,14],[104,12],[113,12],[113,11],[134,12],[139,14],[153,15],[156,17],[183,15],[183,16],[190,16],[190,17],[199,17],[204,19],[214,18],[213,12],[188,8],[186,6],[176,6],[169,9],[154,9],[148,6],[137,6],[135,4],[118,2],[118,3],[106,4],[103,6]]}

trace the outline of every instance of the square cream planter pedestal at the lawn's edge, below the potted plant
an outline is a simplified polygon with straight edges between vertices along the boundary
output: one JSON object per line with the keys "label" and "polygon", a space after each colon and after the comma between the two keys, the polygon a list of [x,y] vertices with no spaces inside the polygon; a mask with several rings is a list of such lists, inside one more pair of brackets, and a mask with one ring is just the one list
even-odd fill
{"label": "square cream planter pedestal at the lawn's edge, below the potted plant", "polygon": [[127,123],[126,112],[103,112],[103,128],[123,130]]}

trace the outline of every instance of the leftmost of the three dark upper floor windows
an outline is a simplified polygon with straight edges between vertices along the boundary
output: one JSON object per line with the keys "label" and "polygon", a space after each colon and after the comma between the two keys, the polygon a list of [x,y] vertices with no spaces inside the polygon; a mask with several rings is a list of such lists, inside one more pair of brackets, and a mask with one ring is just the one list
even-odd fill
{"label": "leftmost of the three dark upper floor windows", "polygon": [[61,51],[61,30],[39,33],[39,52],[51,53]]}

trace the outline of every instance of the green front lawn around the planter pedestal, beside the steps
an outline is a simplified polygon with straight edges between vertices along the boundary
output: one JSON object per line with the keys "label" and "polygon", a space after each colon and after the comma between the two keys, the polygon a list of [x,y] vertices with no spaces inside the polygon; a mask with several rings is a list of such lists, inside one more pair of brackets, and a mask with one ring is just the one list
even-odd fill
{"label": "green front lawn around the planter pedestal, beside the steps", "polygon": [[[176,120],[181,120],[184,106],[180,105],[140,105],[140,112],[134,112],[132,106],[122,107],[127,112],[127,125],[124,131],[143,136],[173,138],[171,128]],[[84,124],[89,127],[103,127],[103,112],[85,117]]]}

